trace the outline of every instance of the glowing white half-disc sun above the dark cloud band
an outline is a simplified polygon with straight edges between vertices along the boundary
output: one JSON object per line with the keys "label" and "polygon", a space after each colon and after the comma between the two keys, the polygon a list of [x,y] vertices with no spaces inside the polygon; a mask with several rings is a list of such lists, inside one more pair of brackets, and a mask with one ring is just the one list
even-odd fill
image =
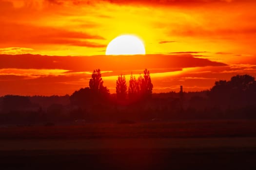
{"label": "glowing white half-disc sun above the dark cloud band", "polygon": [[135,35],[120,35],[107,46],[106,55],[145,54],[143,42]]}

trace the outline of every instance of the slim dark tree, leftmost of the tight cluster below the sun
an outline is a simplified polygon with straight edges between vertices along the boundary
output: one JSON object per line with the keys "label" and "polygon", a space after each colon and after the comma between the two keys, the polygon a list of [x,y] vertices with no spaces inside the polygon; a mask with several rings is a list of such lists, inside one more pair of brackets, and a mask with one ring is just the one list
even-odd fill
{"label": "slim dark tree, leftmost of the tight cluster below the sun", "polygon": [[127,85],[124,75],[119,75],[116,86],[117,97],[119,100],[124,100],[127,95]]}

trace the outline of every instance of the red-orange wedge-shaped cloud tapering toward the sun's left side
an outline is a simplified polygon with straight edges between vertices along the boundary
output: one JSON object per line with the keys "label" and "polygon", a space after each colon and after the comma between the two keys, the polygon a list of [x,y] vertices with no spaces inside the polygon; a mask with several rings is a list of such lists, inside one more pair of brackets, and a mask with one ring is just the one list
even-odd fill
{"label": "red-orange wedge-shaped cloud tapering toward the sun's left side", "polygon": [[104,39],[102,36],[50,27],[4,23],[0,27],[0,33],[0,44],[4,46],[63,44],[93,48],[106,47],[106,45],[88,41]]}

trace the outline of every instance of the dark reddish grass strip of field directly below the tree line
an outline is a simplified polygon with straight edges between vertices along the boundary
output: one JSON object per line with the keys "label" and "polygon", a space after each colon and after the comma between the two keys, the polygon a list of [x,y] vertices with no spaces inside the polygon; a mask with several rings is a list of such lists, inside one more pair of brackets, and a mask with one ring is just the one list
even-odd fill
{"label": "dark reddish grass strip of field directly below the tree line", "polygon": [[135,124],[2,127],[0,139],[256,137],[256,120],[201,120]]}

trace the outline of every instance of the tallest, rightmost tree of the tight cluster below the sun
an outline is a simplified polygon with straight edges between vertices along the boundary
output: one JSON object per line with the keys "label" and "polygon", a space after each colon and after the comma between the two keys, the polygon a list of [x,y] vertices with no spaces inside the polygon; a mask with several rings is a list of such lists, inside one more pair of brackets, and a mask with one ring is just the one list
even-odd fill
{"label": "tallest, rightmost tree of the tight cluster below the sun", "polygon": [[145,97],[152,95],[153,84],[151,82],[150,73],[148,69],[144,70],[144,77],[141,81],[140,91]]}

